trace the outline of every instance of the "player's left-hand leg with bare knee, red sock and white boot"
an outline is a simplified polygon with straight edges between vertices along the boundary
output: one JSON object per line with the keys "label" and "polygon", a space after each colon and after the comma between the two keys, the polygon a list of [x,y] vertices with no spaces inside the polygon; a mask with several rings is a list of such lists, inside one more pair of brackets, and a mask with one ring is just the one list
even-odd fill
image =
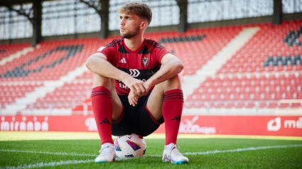
{"label": "player's left-hand leg with bare knee, red sock and white boot", "polygon": [[114,80],[94,75],[91,100],[97,131],[102,142],[100,154],[95,162],[112,162],[115,158],[112,119],[116,121],[121,118],[123,109],[122,102],[119,100],[114,87]]}

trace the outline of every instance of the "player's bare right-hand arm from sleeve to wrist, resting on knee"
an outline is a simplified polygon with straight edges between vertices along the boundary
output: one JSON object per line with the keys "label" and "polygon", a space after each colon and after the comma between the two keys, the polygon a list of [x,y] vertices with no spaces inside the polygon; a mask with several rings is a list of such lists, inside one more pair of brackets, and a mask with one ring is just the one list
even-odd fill
{"label": "player's bare right-hand arm from sleeve to wrist, resting on knee", "polygon": [[171,77],[178,75],[178,73],[183,70],[183,63],[171,53],[167,53],[163,56],[161,65],[163,65],[161,69],[146,81],[149,87],[153,87],[158,83],[168,80]]}

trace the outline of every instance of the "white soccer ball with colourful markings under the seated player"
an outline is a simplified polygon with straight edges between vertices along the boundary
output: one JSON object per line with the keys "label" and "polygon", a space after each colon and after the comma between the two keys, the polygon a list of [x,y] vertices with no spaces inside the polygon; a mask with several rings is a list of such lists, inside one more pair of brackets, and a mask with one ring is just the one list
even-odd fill
{"label": "white soccer ball with colourful markings under the seated player", "polygon": [[144,156],[146,153],[146,141],[135,133],[118,136],[114,140],[117,158],[134,158]]}

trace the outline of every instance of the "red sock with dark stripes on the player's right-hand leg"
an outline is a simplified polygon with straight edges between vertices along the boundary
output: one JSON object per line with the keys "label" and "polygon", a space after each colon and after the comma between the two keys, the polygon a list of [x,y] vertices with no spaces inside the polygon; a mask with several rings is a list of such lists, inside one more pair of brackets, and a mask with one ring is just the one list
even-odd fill
{"label": "red sock with dark stripes on the player's right-hand leg", "polygon": [[183,113],[183,90],[171,89],[163,97],[163,119],[165,119],[166,145],[175,143]]}

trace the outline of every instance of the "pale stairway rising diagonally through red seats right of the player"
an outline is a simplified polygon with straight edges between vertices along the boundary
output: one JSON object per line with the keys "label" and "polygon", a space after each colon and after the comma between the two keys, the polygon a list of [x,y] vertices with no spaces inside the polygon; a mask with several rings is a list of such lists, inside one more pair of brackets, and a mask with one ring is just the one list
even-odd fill
{"label": "pale stairway rising diagonally through red seats right of the player", "polygon": [[214,55],[210,60],[198,70],[195,75],[186,75],[183,77],[183,94],[188,97],[193,93],[200,83],[205,81],[207,77],[214,77],[216,72],[220,70],[222,65],[227,62],[232,55],[236,53],[247,41],[252,38],[259,28],[244,28],[225,48],[222,48],[217,55]]}

